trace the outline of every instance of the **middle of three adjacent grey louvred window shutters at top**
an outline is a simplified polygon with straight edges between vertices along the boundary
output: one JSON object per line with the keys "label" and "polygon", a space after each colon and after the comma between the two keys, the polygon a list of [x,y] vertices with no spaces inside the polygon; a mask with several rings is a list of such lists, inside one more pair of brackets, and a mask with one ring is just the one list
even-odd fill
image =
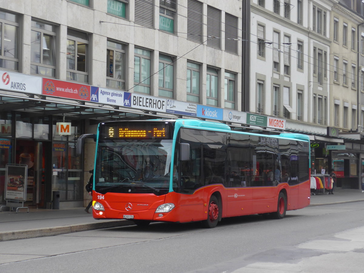
{"label": "middle of three adjacent grey louvred window shutters at top", "polygon": [[207,6],[207,46],[220,48],[221,44],[221,11],[213,7]]}

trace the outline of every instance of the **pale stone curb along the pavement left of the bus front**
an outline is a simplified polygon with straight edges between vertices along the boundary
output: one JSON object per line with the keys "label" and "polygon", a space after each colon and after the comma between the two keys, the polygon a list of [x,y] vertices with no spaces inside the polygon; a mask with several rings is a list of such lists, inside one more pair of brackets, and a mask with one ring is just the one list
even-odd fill
{"label": "pale stone curb along the pavement left of the bus front", "polygon": [[39,229],[23,229],[12,232],[0,232],[0,242],[30,239],[38,237],[55,236],[73,232],[81,232],[94,229],[106,229],[110,227],[130,226],[133,222],[128,220],[115,220],[101,223],[83,223],[67,226],[41,227]]}

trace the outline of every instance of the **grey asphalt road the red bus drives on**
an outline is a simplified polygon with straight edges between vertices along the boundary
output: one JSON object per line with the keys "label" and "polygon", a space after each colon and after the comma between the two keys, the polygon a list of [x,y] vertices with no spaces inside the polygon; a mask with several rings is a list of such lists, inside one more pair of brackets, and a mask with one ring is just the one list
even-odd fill
{"label": "grey asphalt road the red bus drives on", "polygon": [[362,272],[364,202],[0,242],[0,272]]}

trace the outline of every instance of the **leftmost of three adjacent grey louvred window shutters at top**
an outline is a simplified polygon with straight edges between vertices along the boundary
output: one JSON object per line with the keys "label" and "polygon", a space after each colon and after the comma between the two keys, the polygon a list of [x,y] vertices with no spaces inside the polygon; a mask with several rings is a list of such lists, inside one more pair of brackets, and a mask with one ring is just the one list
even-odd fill
{"label": "leftmost of three adjacent grey louvred window shutters at top", "polygon": [[195,0],[187,1],[187,39],[202,42],[202,5]]}

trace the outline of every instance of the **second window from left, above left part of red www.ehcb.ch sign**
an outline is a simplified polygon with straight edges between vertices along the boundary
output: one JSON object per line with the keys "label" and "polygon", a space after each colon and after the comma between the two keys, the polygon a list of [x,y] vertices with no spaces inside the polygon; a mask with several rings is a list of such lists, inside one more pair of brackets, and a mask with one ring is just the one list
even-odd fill
{"label": "second window from left, above left part of red www.ehcb.ch sign", "polygon": [[55,25],[32,20],[30,70],[32,74],[56,76]]}

